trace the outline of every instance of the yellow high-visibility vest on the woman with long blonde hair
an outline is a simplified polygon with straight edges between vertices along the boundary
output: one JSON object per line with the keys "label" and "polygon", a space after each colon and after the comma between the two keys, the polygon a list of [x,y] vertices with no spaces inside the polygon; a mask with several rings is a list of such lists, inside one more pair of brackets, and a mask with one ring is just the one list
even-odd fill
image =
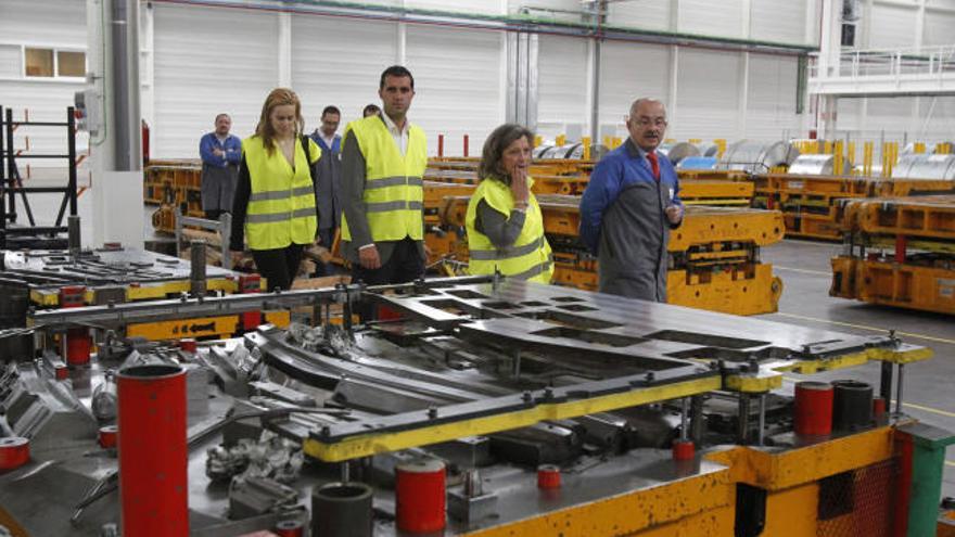
{"label": "yellow high-visibility vest on the woman with long blonde hair", "polygon": [[321,150],[308,139],[311,163],[301,139],[295,141],[295,169],[278,148],[269,154],[257,136],[242,140],[242,152],[252,193],[245,214],[245,238],[252,250],[283,248],[292,243],[308,244],[318,227],[315,186],[309,164],[321,157]]}

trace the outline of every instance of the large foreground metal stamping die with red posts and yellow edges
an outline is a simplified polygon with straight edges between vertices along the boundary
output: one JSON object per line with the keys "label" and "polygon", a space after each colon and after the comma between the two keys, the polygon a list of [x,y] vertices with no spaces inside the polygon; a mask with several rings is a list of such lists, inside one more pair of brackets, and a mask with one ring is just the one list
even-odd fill
{"label": "large foreground metal stamping die with red posts and yellow edges", "polygon": [[[320,322],[198,346],[123,336],[265,308]],[[26,324],[38,348],[0,378],[3,435],[29,449],[0,474],[13,535],[115,535],[122,519],[123,535],[924,536],[953,442],[901,412],[905,368],[931,351],[893,335],[498,277],[85,305]],[[56,380],[38,357],[65,327],[99,353]],[[784,382],[869,361],[879,386]]]}

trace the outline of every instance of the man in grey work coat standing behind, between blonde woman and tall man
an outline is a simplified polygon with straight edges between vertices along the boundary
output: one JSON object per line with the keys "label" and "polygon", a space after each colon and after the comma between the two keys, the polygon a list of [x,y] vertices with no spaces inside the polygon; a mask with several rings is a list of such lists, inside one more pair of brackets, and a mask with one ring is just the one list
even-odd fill
{"label": "man in grey work coat standing behind, between blonde woman and tall man", "polygon": [[[321,112],[321,127],[315,129],[311,139],[321,149],[322,158],[318,163],[316,177],[316,206],[318,207],[318,236],[320,243],[331,251],[335,231],[342,221],[342,137],[335,131],[342,119],[342,112],[335,106],[326,106]],[[316,276],[331,272],[330,265],[319,264]]]}

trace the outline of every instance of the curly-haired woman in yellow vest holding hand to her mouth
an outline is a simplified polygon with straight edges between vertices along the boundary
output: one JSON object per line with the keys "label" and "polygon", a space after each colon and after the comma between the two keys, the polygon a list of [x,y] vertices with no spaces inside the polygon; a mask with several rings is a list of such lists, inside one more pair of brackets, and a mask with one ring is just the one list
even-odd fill
{"label": "curly-haired woman in yellow vest holding hand to her mouth", "polygon": [[544,217],[527,176],[534,135],[520,125],[494,129],[484,142],[468,203],[468,261],[472,274],[504,276],[550,283],[553,258],[544,236]]}

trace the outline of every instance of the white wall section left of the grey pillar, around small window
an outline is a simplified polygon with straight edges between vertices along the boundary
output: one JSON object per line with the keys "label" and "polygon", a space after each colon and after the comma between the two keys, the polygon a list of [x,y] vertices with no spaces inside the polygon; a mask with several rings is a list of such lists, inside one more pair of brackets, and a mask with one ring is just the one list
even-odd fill
{"label": "white wall section left of the grey pillar, around small window", "polygon": [[[77,21],[80,23],[77,24]],[[82,89],[82,78],[36,78],[24,76],[24,47],[86,51],[86,5],[63,0],[3,0],[0,2],[0,106],[12,108],[14,120],[28,116],[36,122],[65,122],[73,94]],[[42,30],[40,30],[42,29]],[[15,149],[31,153],[66,153],[66,128],[23,127],[14,135]],[[86,151],[87,137],[77,137]],[[21,159],[26,177],[51,177],[43,168],[62,168],[63,162]],[[65,175],[53,174],[52,177]]]}

